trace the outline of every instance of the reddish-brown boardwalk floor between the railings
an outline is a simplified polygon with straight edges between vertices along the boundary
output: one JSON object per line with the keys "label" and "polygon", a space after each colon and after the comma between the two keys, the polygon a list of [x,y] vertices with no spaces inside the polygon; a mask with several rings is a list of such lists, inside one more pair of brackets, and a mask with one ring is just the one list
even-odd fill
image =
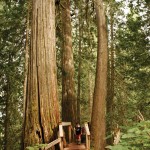
{"label": "reddish-brown boardwalk floor between the railings", "polygon": [[64,150],[87,150],[84,144],[77,145],[76,143],[70,143]]}

